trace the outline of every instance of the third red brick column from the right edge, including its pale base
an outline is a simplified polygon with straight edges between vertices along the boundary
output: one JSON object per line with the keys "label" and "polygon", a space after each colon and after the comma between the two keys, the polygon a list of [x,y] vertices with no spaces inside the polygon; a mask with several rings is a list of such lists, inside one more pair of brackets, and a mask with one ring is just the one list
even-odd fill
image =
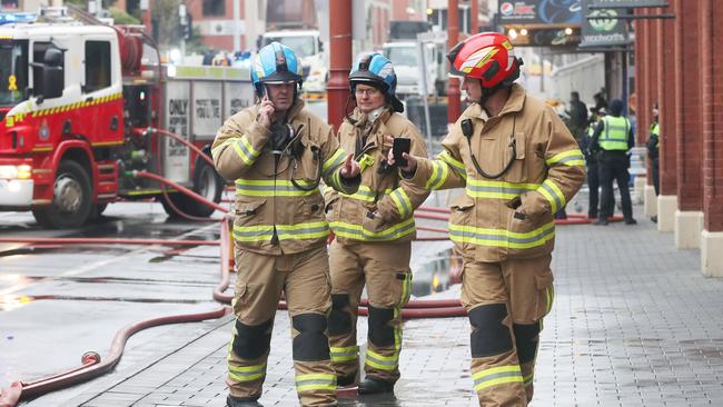
{"label": "third red brick column from the right edge, including its pale base", "polygon": [[[668,6],[661,12],[674,12]],[[656,20],[658,33],[671,33],[675,30],[672,19]],[[670,34],[657,36],[657,105],[663,137],[660,142],[660,180],[661,195],[657,197],[657,230],[675,230],[675,210],[677,210],[677,160],[675,140],[675,38]],[[655,102],[655,100],[653,100]],[[645,123],[645,131],[650,122]],[[638,127],[640,128],[640,127]]]}

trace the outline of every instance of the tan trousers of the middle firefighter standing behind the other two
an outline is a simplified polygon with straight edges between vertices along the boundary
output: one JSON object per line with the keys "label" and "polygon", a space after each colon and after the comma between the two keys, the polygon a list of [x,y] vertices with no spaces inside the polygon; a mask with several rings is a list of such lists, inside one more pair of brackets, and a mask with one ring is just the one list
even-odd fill
{"label": "tan trousers of the middle firefighter standing behind the other two", "polygon": [[357,383],[359,347],[356,338],[357,307],[366,284],[369,299],[367,351],[368,377],[396,383],[402,350],[402,307],[409,300],[412,244],[334,241],[331,265],[331,360],[339,385]]}

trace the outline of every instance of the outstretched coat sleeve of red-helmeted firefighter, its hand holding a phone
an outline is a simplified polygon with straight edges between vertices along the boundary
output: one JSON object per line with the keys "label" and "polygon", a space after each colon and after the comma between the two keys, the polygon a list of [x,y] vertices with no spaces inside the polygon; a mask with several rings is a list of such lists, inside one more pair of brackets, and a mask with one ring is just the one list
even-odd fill
{"label": "outstretched coat sleeve of red-helmeted firefighter, its hand holding a phone", "polygon": [[417,158],[417,169],[409,181],[427,190],[452,189],[467,185],[467,170],[462,160],[459,141],[462,137],[450,132],[442,141],[443,151],[434,160]]}

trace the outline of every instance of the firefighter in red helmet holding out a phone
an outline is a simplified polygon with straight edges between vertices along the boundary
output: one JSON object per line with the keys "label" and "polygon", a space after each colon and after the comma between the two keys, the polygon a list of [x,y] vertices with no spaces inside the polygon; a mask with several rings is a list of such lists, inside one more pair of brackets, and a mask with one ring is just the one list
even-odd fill
{"label": "firefighter in red helmet holding out a phone", "polygon": [[557,115],[514,83],[522,60],[507,37],[468,37],[447,58],[471,105],[436,159],[405,155],[402,172],[428,189],[465,188],[449,237],[463,256],[474,388],[481,406],[526,406],[554,298],[553,214],[584,182],[585,160]]}

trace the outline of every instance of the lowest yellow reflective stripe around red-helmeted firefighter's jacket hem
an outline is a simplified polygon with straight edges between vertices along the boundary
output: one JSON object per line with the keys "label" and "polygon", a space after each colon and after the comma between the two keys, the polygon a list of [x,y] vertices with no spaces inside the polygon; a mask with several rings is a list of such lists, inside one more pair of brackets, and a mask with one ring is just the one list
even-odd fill
{"label": "lowest yellow reflective stripe around red-helmeted firefighter's jacket hem", "polygon": [[555,224],[549,222],[525,232],[514,232],[506,229],[476,228],[467,225],[449,224],[449,238],[455,242],[466,242],[479,246],[507,247],[528,249],[544,245],[555,237]]}

